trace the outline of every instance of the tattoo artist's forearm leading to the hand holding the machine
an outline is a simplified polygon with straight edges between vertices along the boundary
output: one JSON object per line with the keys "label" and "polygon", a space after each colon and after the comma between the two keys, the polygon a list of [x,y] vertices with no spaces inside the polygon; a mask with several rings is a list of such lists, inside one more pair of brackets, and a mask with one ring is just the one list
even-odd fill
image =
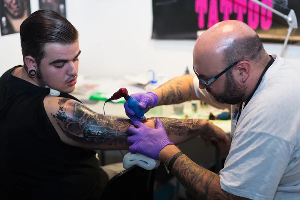
{"label": "tattoo artist's forearm leading to the hand holding the machine", "polygon": [[157,105],[170,105],[197,99],[193,89],[194,75],[175,77],[152,90],[158,96]]}

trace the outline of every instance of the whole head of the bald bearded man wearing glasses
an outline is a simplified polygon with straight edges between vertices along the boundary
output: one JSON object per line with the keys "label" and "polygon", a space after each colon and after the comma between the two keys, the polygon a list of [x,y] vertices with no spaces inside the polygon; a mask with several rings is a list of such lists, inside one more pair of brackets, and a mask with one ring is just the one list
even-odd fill
{"label": "whole head of the bald bearded man wearing glasses", "polygon": [[197,39],[193,52],[199,87],[219,103],[227,104],[249,97],[269,60],[256,32],[236,20],[223,21],[206,30]]}

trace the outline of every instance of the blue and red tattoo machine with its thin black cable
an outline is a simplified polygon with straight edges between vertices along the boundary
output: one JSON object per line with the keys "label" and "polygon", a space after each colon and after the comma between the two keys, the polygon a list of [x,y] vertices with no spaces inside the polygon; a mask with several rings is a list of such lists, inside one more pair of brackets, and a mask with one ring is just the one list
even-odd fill
{"label": "blue and red tattoo machine with its thin black cable", "polygon": [[[145,110],[140,109],[138,107],[138,101],[135,100],[134,98],[132,98],[130,95],[128,95],[128,90],[126,88],[120,88],[108,100],[106,100],[105,103],[110,102],[112,100],[120,99],[122,97],[125,98],[125,100],[128,102],[128,107],[134,111],[135,115],[138,118],[147,120],[147,118],[144,116]],[[105,103],[104,103],[104,106],[105,106]],[[103,107],[103,109],[104,109],[104,107]],[[104,110],[104,114],[105,114],[105,110]]]}

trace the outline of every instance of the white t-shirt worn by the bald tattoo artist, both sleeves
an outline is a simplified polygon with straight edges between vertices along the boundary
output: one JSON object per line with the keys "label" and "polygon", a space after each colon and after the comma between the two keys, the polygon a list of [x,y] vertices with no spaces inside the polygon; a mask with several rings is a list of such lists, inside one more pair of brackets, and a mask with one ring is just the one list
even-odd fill
{"label": "white t-shirt worn by the bald tattoo artist, both sleeves", "polygon": [[[300,66],[277,56],[231,132],[223,190],[250,199],[300,199],[299,80]],[[194,82],[201,99],[207,92]]]}

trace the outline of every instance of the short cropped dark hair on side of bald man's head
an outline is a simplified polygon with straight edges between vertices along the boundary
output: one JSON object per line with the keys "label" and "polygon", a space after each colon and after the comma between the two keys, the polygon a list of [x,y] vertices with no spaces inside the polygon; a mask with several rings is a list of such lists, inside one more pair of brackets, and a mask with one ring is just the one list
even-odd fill
{"label": "short cropped dark hair on side of bald man's head", "polygon": [[262,52],[264,52],[263,44],[257,34],[236,39],[223,52],[224,67],[239,60],[258,62],[263,56]]}

